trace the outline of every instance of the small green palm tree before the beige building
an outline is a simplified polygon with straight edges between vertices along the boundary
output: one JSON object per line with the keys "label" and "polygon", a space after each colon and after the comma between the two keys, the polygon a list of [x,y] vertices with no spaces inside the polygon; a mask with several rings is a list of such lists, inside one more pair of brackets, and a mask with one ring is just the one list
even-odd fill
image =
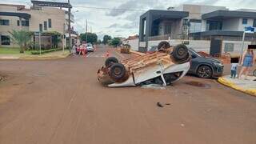
{"label": "small green palm tree before the beige building", "polygon": [[20,53],[24,53],[26,46],[31,41],[31,33],[26,30],[12,30],[9,32],[12,42],[18,44],[20,48]]}

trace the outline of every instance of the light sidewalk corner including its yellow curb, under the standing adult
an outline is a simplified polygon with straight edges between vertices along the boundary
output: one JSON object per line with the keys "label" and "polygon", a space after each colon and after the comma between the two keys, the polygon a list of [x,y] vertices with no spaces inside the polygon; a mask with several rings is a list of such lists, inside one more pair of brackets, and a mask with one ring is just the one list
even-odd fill
{"label": "light sidewalk corner including its yellow curb, under the standing adult", "polygon": [[256,77],[248,76],[248,80],[230,78],[230,75],[223,76],[218,78],[218,82],[222,83],[225,86],[229,86],[234,90],[242,91],[246,94],[256,96]]}

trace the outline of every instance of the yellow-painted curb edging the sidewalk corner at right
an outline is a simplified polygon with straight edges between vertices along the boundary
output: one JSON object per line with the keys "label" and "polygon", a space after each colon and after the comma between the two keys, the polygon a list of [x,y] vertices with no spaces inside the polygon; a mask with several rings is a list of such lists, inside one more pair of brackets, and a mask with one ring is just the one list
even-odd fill
{"label": "yellow-painted curb edging the sidewalk corner at right", "polygon": [[245,90],[240,86],[235,85],[233,82],[227,81],[225,78],[218,78],[218,82],[222,83],[222,85],[228,86],[234,90],[242,91],[243,93],[250,94],[256,96],[256,90]]}

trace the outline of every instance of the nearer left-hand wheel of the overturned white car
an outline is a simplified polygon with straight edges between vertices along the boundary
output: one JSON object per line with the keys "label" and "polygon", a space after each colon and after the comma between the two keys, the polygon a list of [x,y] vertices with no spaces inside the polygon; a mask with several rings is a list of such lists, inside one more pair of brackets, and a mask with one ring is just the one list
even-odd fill
{"label": "nearer left-hand wheel of the overturned white car", "polygon": [[122,63],[114,63],[110,67],[110,78],[113,78],[114,81],[119,81],[120,79],[124,78],[126,75],[126,67],[122,65]]}

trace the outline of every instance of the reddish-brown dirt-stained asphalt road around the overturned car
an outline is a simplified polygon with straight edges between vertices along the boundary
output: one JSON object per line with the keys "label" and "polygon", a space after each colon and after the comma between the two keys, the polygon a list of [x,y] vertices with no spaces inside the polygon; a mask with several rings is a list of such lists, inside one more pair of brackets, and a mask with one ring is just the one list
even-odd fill
{"label": "reddish-brown dirt-stained asphalt road around the overturned car", "polygon": [[[99,46],[86,57],[59,60],[0,61],[0,73],[7,76],[0,83],[0,143],[256,143],[255,97],[194,77],[166,90],[107,88],[96,77],[106,50]],[[114,50],[110,55],[130,57]]]}

